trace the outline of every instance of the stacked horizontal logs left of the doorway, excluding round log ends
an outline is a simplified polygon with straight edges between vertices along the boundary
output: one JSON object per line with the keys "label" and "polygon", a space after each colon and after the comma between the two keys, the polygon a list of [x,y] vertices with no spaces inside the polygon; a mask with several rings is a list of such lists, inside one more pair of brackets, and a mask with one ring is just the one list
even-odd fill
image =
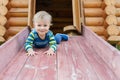
{"label": "stacked horizontal logs left of the doorway, excluding round log ends", "polygon": [[28,2],[29,0],[9,0],[8,13],[6,15],[7,21],[5,24],[6,33],[5,39],[8,40],[16,35],[28,24]]}

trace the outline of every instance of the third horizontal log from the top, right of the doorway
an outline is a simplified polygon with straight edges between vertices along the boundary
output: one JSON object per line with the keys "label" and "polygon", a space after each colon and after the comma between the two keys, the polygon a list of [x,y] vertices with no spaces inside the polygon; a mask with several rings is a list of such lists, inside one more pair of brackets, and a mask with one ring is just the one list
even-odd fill
{"label": "third horizontal log from the top, right of the doorway", "polygon": [[104,18],[102,17],[86,17],[85,25],[86,26],[103,26]]}

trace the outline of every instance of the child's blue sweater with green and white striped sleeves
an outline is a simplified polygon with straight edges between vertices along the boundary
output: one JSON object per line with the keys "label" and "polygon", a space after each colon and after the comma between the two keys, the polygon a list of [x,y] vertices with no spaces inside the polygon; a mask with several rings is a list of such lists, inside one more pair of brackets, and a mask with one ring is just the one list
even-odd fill
{"label": "child's blue sweater with green and white striped sleeves", "polygon": [[52,31],[50,30],[47,32],[45,39],[43,40],[38,36],[38,33],[36,32],[36,30],[33,29],[30,32],[24,46],[26,51],[28,51],[29,49],[33,49],[33,47],[43,48],[46,46],[49,46],[54,51],[56,51],[57,49],[56,40],[54,38]]}

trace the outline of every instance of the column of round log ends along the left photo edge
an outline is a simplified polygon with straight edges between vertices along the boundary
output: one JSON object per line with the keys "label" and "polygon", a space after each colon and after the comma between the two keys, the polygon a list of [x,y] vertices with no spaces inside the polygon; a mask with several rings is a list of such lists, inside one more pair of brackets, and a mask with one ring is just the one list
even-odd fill
{"label": "column of round log ends along the left photo edge", "polygon": [[0,0],[0,44],[5,42],[4,35],[6,33],[5,24],[7,22],[6,14],[8,12],[7,9],[8,0]]}

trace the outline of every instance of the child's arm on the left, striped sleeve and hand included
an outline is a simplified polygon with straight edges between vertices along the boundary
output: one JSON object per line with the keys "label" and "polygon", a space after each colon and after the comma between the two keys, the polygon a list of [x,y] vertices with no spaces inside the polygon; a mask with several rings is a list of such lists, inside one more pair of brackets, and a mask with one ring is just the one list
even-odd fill
{"label": "child's arm on the left, striped sleeve and hand included", "polygon": [[34,56],[35,55],[35,51],[33,51],[33,41],[34,41],[34,33],[30,32],[26,42],[25,42],[25,50],[27,52],[28,56]]}

